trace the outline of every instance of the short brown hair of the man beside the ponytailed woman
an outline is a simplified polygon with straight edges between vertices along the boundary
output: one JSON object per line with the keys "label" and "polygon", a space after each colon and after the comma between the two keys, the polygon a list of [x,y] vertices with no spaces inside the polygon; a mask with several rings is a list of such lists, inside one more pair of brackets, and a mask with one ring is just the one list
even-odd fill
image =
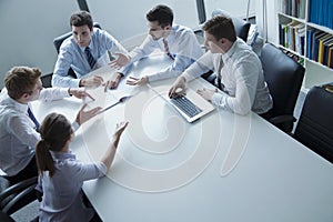
{"label": "short brown hair of the man beside the ponytailed woman", "polygon": [[29,67],[13,67],[4,78],[4,85],[10,98],[17,100],[23,93],[32,93],[34,85],[41,77],[41,70]]}

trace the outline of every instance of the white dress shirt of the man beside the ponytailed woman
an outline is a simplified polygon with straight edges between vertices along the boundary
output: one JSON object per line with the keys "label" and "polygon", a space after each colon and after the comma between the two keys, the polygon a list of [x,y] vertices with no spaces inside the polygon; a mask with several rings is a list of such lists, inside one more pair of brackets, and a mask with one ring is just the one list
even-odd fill
{"label": "white dress shirt of the man beside the ponytailed woman", "polygon": [[[70,97],[68,89],[49,88],[40,93],[40,100],[50,101]],[[17,102],[3,89],[0,94],[0,168],[12,176],[23,170],[34,155],[40,140],[36,124],[28,115],[28,105]]]}

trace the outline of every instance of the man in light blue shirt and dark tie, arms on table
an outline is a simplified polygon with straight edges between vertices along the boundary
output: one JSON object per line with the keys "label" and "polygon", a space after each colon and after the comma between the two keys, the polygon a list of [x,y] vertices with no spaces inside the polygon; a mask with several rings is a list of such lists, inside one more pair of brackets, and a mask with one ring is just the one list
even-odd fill
{"label": "man in light blue shirt and dark tie, arms on table", "polygon": [[[72,36],[65,39],[60,49],[54,67],[53,87],[99,87],[103,79],[99,75],[84,77],[92,70],[107,65],[110,62],[109,52],[123,53],[118,58],[119,63],[128,62],[128,51],[105,30],[93,27],[93,20],[89,12],[74,12],[70,18]],[[109,51],[109,52],[108,52]],[[72,68],[77,79],[68,74]],[[109,87],[118,87],[122,70],[119,70],[115,79],[111,80]]]}

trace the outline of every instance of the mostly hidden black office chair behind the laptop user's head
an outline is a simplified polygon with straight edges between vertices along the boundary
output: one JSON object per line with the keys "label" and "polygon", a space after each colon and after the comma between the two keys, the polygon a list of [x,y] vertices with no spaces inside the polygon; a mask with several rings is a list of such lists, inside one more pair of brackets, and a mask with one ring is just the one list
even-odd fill
{"label": "mostly hidden black office chair behind the laptop user's head", "polygon": [[[241,38],[242,40],[244,40],[244,42],[246,42],[248,40],[248,36],[249,36],[249,30],[250,30],[250,23],[245,20],[242,20],[240,18],[233,17],[231,13],[221,10],[221,9],[216,9],[213,11],[212,17],[215,16],[225,16],[232,19],[236,36],[239,38]],[[206,81],[209,81],[210,83],[214,84],[215,79],[216,79],[216,74],[213,73],[212,71],[206,72],[204,74],[201,75],[203,79],[205,79]]]}

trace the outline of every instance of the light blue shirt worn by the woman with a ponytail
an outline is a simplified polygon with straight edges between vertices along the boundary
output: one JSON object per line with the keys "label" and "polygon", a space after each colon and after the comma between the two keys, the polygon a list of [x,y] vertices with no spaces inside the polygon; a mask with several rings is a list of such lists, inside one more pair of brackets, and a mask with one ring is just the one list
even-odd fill
{"label": "light blue shirt worn by the woman with a ponytail", "polygon": [[37,190],[43,193],[40,221],[90,221],[93,210],[83,205],[81,188],[83,181],[98,179],[107,173],[102,163],[82,163],[71,152],[52,152],[56,173],[49,171],[39,178]]}

